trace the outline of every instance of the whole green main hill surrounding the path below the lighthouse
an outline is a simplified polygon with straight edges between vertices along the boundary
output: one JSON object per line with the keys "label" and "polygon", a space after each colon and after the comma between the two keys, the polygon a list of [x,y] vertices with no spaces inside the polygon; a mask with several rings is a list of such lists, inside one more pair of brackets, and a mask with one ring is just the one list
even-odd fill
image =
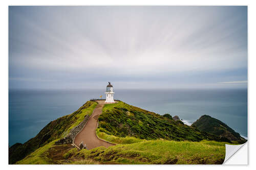
{"label": "whole green main hill surrounding the path below the lighthouse", "polygon": [[[99,138],[117,145],[81,151],[71,144],[54,145],[84,115],[91,114],[96,105],[87,102],[76,112],[49,123],[28,142],[13,145],[15,151],[11,156],[18,156],[21,151],[23,158],[26,156],[19,157],[16,164],[221,164],[224,161],[225,143],[230,142],[227,138],[184,125],[169,114],[161,116],[121,101],[104,105],[96,130]],[[50,134],[47,140],[41,140],[47,134]],[[33,141],[41,144],[35,144],[34,150],[27,153],[24,148],[33,146]]]}

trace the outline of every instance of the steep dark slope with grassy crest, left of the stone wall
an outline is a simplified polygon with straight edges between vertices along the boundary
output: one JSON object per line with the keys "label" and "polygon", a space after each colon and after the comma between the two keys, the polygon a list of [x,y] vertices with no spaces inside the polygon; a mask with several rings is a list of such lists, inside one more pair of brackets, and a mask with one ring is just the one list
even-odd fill
{"label": "steep dark slope with grassy crest, left of the stone wall", "polygon": [[9,164],[25,158],[36,149],[55,139],[65,137],[73,127],[82,122],[84,115],[91,114],[96,106],[96,102],[89,101],[74,113],[50,122],[35,137],[24,144],[16,143],[12,145],[9,148]]}

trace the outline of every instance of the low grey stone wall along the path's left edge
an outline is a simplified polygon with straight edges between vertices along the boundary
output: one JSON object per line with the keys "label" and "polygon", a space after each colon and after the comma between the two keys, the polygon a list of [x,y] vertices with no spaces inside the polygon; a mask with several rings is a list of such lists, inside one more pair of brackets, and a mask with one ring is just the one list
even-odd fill
{"label": "low grey stone wall along the path's left edge", "polygon": [[72,143],[72,141],[74,140],[75,136],[82,130],[84,125],[86,125],[89,117],[90,116],[88,114],[86,116],[84,116],[84,119],[82,120],[82,122],[79,125],[77,125],[73,129],[71,129],[69,134],[66,137],[64,137],[62,139],[59,139],[58,141],[55,142],[55,144]]}

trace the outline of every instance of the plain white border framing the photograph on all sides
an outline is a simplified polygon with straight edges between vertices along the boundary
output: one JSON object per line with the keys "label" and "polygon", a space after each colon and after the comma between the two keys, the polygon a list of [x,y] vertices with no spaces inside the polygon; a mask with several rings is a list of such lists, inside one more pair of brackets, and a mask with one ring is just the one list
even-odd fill
{"label": "plain white border framing the photograph on all sides", "polygon": [[[232,169],[244,169],[255,166],[255,157],[253,155],[255,153],[255,135],[252,136],[250,133],[253,129],[255,129],[255,123],[252,123],[252,120],[256,120],[256,110],[255,110],[255,16],[256,16],[256,8],[255,1],[224,1],[224,0],[216,0],[216,1],[151,1],[151,0],[130,0],[126,2],[121,2],[118,0],[108,0],[108,1],[1,1],[0,6],[0,17],[1,17],[1,57],[0,57],[0,74],[1,74],[1,129],[2,129],[2,140],[1,140],[1,165],[2,168],[21,168],[21,169],[70,169],[69,165],[8,165],[8,5],[248,5],[248,139],[249,139],[249,166],[234,166],[234,165],[76,165],[76,168],[104,168],[104,169],[130,169],[132,168],[147,168],[147,169],[155,169],[155,168],[189,168],[189,169],[216,169],[216,168],[232,168]],[[254,88],[253,88],[254,87]],[[253,102],[253,103],[252,103]],[[251,144],[250,144],[251,143]],[[57,166],[57,167],[56,167]],[[217,167],[218,166],[218,167]]]}

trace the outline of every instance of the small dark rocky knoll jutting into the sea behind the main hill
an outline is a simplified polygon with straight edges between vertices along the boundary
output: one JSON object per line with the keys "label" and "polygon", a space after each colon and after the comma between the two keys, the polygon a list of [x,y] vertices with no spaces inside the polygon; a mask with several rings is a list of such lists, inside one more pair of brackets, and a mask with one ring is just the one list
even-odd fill
{"label": "small dark rocky knoll jutting into the sea behind the main hill", "polygon": [[232,141],[233,143],[244,143],[246,139],[241,137],[239,133],[228,127],[220,120],[208,115],[201,116],[191,126],[197,127],[199,130],[210,134],[219,135]]}

